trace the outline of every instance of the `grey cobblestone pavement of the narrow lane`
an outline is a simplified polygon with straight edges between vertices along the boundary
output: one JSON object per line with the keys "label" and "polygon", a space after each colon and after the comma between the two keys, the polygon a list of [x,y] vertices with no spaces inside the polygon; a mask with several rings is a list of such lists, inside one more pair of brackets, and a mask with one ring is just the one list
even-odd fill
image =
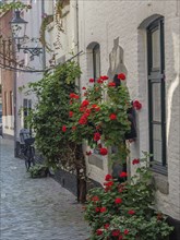
{"label": "grey cobblestone pavement of the narrow lane", "polygon": [[13,141],[0,140],[1,240],[85,240],[88,228],[75,196],[51,178],[31,179]]}

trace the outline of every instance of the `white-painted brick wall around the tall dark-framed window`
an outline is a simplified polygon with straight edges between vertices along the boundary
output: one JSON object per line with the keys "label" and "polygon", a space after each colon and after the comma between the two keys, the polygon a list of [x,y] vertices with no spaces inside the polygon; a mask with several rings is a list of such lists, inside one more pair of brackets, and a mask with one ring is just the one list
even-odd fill
{"label": "white-painted brick wall around the tall dark-framed window", "polygon": [[[167,194],[157,190],[157,206],[169,216],[180,219],[180,2],[179,1],[79,1],[81,86],[92,77],[91,43],[100,45],[100,72],[107,74],[109,53],[119,37],[127,68],[127,85],[131,99],[143,108],[136,115],[139,136],[131,144],[130,160],[148,152],[147,46],[146,26],[157,15],[165,17],[165,75],[168,175],[160,176],[168,185]],[[147,20],[147,17],[149,17]],[[146,20],[146,21],[145,21]],[[104,161],[106,165],[106,159]],[[104,170],[87,165],[89,177],[103,182]],[[131,166],[133,172],[133,167]]]}

